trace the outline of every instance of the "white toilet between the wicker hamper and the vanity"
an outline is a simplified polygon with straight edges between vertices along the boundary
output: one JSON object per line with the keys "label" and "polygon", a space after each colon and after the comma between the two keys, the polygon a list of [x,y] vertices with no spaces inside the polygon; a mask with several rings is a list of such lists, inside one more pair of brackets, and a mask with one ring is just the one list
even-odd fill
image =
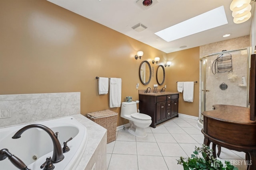
{"label": "white toilet between the wicker hamper and the vanity", "polygon": [[145,128],[152,123],[149,115],[138,113],[136,102],[122,102],[120,116],[128,119],[130,127],[128,131],[137,137],[146,137]]}

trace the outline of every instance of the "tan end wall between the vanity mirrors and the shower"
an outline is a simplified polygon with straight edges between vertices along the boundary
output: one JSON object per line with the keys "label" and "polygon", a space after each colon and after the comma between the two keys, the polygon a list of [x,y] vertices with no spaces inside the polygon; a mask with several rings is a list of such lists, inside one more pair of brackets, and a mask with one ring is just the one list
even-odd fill
{"label": "tan end wall between the vanity mirrors and the shower", "polygon": [[176,82],[194,83],[194,101],[184,102],[183,93],[180,93],[179,113],[198,117],[199,111],[199,47],[186,49],[167,54],[167,61],[172,61],[172,65],[166,70],[167,91],[177,92]]}

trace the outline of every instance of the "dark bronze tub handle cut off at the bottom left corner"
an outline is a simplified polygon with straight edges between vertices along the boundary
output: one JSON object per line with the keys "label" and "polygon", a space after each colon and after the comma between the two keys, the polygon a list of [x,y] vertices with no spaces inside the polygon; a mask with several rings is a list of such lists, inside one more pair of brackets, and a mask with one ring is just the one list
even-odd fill
{"label": "dark bronze tub handle cut off at the bottom left corner", "polygon": [[18,157],[14,156],[9,152],[8,149],[0,150],[0,160],[4,160],[5,158],[9,158],[9,160],[20,170],[30,170],[28,167],[20,160]]}

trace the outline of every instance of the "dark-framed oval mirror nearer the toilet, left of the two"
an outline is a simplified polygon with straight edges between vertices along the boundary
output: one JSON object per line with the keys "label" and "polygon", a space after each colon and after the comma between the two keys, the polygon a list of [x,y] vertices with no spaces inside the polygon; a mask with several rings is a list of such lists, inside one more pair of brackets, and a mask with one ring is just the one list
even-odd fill
{"label": "dark-framed oval mirror nearer the toilet, left of the two", "polygon": [[139,69],[140,81],[146,85],[151,80],[151,67],[148,61],[142,61]]}

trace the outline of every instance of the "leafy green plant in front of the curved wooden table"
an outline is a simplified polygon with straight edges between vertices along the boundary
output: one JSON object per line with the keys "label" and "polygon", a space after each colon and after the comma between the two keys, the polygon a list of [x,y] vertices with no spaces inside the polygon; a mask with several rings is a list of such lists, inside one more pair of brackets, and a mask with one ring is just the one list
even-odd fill
{"label": "leafy green plant in front of the curved wooden table", "polygon": [[202,147],[195,147],[191,158],[180,156],[177,161],[178,164],[183,166],[184,170],[238,170],[228,161],[225,161],[224,165],[221,160],[213,157],[212,152],[213,150],[209,146],[202,145]]}

